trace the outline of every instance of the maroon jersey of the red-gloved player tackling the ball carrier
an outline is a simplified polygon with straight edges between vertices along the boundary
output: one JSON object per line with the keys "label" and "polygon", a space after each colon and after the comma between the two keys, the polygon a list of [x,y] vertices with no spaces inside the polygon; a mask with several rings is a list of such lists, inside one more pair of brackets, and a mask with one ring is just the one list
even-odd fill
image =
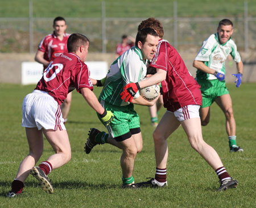
{"label": "maroon jersey of the red-gloved player tackling the ball carrier", "polygon": [[189,73],[176,49],[167,41],[159,40],[150,66],[167,71],[162,81],[164,107],[174,112],[185,105],[201,105],[200,85]]}

